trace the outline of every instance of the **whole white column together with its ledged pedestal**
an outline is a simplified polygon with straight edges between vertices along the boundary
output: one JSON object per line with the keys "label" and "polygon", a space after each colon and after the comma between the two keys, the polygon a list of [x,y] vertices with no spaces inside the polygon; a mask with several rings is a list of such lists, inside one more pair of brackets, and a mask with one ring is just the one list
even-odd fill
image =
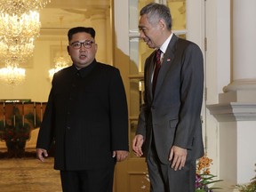
{"label": "whole white column together with its ledged pedestal", "polygon": [[232,80],[219,94],[219,103],[207,106],[219,122],[219,176],[229,186],[249,182],[256,163],[256,1],[232,2]]}

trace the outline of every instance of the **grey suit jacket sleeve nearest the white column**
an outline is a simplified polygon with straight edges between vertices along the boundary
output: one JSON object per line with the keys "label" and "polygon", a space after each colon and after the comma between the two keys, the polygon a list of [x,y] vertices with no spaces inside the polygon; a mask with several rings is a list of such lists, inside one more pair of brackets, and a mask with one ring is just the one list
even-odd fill
{"label": "grey suit jacket sleeve nearest the white column", "polygon": [[196,132],[201,132],[200,113],[204,92],[204,60],[200,48],[189,44],[181,60],[180,113],[174,145],[192,148]]}

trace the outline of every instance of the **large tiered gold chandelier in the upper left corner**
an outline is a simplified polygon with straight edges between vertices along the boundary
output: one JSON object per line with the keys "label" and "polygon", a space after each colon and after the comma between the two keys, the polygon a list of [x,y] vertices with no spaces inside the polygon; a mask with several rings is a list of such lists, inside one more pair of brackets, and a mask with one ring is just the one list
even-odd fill
{"label": "large tiered gold chandelier in the upper left corner", "polygon": [[0,79],[17,85],[25,80],[25,69],[19,68],[33,55],[39,36],[39,10],[51,0],[0,0]]}

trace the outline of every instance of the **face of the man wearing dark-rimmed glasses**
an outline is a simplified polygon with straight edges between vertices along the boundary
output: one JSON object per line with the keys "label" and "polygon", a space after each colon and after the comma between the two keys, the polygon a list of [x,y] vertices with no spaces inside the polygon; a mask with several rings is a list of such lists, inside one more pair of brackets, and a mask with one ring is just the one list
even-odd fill
{"label": "face of the man wearing dark-rimmed glasses", "polygon": [[[81,47],[79,47],[79,44]],[[68,45],[68,54],[76,65],[76,68],[84,68],[90,65],[95,59],[96,52],[97,44],[95,44],[95,40],[88,33],[80,32],[74,34]]]}

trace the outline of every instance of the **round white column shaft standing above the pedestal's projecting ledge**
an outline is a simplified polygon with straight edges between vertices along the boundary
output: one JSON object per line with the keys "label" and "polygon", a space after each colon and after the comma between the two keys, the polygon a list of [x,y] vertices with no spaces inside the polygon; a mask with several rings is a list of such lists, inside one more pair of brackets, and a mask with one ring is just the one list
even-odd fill
{"label": "round white column shaft standing above the pedestal's projecting ledge", "polygon": [[233,1],[233,82],[224,92],[256,90],[256,1]]}

